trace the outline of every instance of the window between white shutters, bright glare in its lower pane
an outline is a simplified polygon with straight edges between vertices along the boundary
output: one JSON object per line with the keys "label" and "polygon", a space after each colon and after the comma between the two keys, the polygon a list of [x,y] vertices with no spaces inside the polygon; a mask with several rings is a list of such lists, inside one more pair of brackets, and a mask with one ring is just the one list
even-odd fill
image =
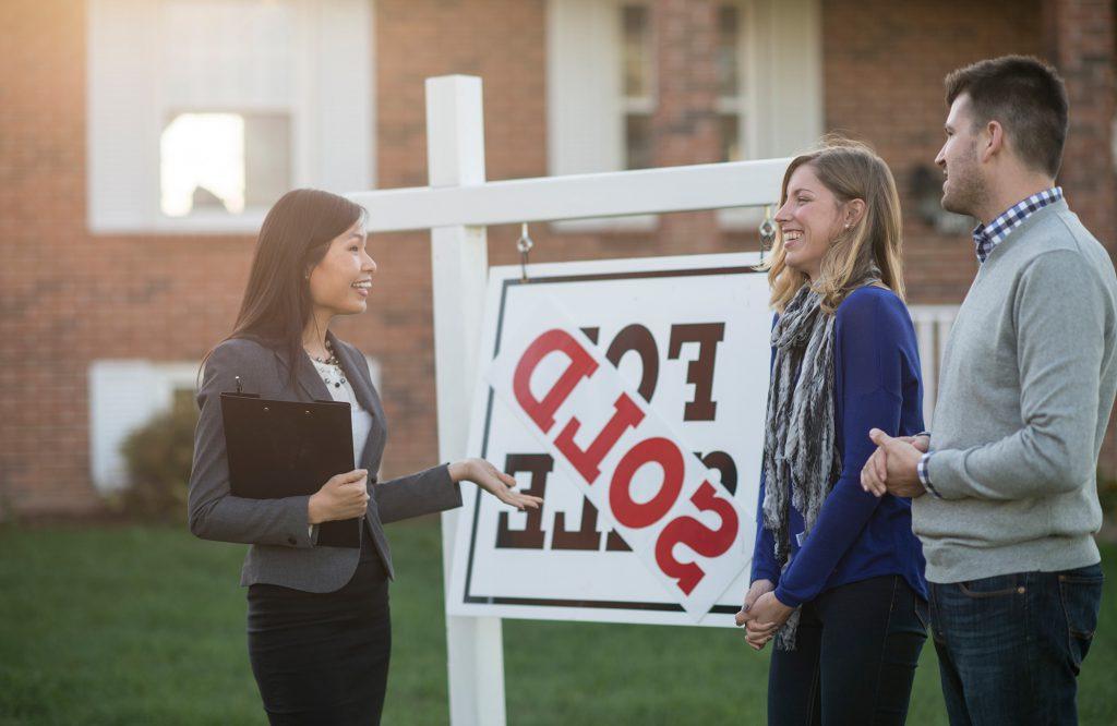
{"label": "window between white shutters, bright glare in its lower pane", "polygon": [[266,210],[292,188],[294,2],[164,0],[160,210]]}

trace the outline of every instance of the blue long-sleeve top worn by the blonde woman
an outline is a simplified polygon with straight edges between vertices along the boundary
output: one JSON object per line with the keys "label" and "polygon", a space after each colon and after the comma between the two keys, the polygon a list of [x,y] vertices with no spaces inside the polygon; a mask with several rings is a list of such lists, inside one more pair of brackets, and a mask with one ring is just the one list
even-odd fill
{"label": "blue long-sleeve top worn by the blonde woman", "polygon": [[805,537],[802,514],[789,507],[791,561],[781,573],[773,533],[764,528],[761,471],[752,580],[771,580],[776,599],[793,608],[827,590],[880,575],[901,575],[926,600],[923,548],[911,533],[911,500],[890,494],[878,499],[861,489],[861,468],[876,449],[870,429],[889,436],[924,430],[915,328],[891,290],[862,287],[838,306],[833,392],[841,475]]}

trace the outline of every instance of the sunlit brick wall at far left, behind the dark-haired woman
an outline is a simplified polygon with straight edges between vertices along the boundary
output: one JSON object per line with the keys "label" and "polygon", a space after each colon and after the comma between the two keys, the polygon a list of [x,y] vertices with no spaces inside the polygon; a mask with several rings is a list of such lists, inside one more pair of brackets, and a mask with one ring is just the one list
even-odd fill
{"label": "sunlit brick wall at far left, behind the dark-haired woman", "polygon": [[251,239],[92,237],[85,3],[6,2],[0,28],[0,508],[85,512],[90,361],[199,359]]}

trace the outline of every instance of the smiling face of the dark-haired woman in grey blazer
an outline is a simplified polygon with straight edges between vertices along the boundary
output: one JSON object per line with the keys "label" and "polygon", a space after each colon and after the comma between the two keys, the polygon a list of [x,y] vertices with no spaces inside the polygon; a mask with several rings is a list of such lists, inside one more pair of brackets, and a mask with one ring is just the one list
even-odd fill
{"label": "smiling face of the dark-haired woman in grey blazer", "polygon": [[322,261],[311,270],[311,302],[333,315],[363,313],[369,306],[376,261],[366,250],[364,220],[330,242]]}

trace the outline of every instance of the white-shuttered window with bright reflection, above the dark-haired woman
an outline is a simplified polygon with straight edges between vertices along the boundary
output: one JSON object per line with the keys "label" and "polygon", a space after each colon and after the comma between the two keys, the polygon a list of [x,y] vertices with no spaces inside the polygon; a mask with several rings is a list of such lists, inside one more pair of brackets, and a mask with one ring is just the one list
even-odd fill
{"label": "white-shuttered window with bright reflection, above the dark-haired woman", "polygon": [[255,230],[372,185],[372,0],[92,0],[89,226]]}

